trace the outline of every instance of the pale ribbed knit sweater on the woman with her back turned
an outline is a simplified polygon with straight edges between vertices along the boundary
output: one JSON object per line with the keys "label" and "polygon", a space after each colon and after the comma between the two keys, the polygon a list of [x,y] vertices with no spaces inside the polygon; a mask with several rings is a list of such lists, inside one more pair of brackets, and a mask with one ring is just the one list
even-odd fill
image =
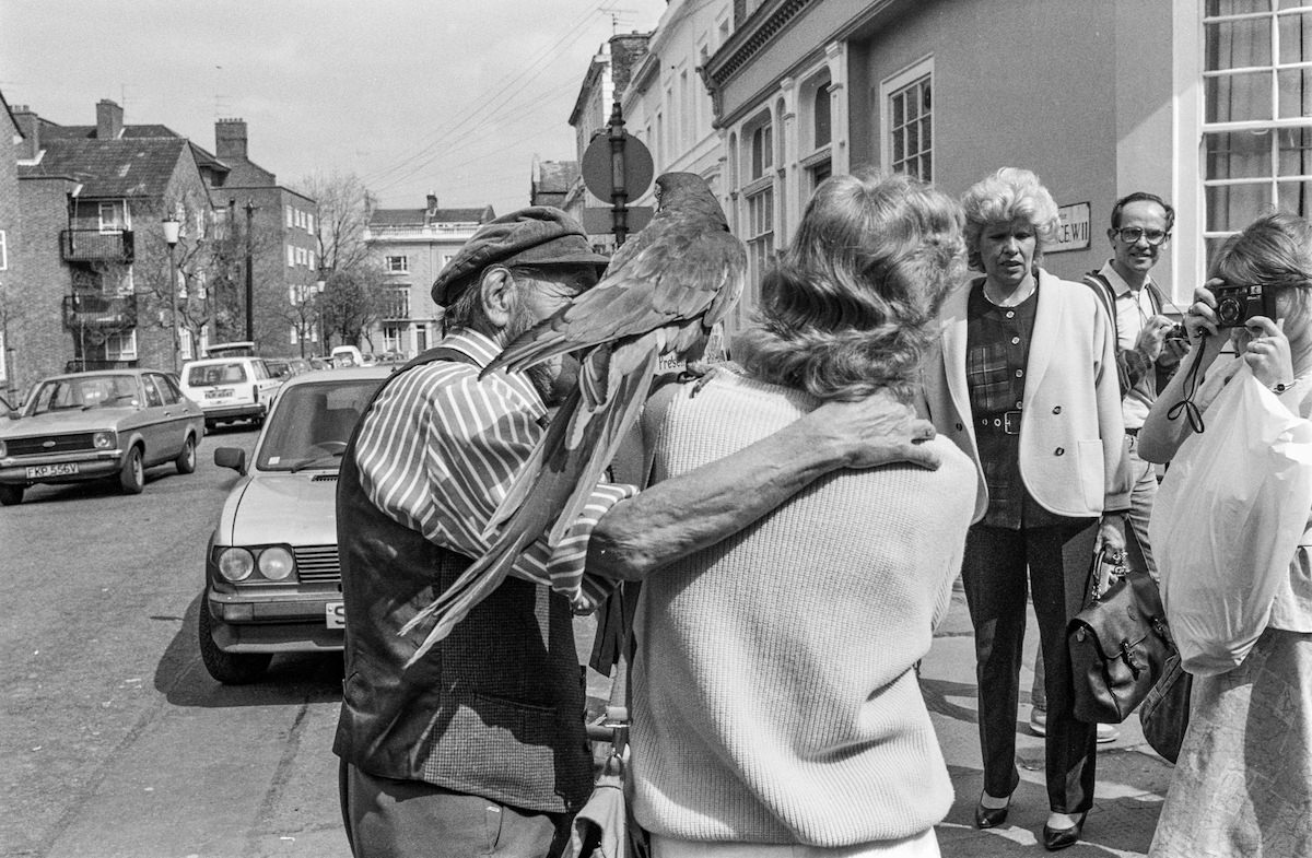
{"label": "pale ribbed knit sweater on the woman with her back turned", "polygon": [[[796,420],[810,396],[715,377],[653,401],[653,481]],[[846,846],[918,834],[953,787],[913,665],[946,611],[975,468],[848,470],[643,585],[638,821],[693,841]]]}

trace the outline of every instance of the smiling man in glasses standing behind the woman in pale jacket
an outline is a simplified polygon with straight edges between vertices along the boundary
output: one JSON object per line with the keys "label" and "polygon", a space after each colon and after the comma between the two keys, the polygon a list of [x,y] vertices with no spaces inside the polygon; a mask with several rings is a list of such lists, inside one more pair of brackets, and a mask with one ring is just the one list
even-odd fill
{"label": "smiling man in glasses standing behind the woman in pale jacket", "polygon": [[[1127,564],[1157,577],[1148,544],[1148,517],[1157,497],[1157,466],[1139,457],[1139,429],[1157,400],[1157,388],[1179,365],[1189,341],[1177,335],[1176,321],[1164,315],[1166,296],[1149,272],[1170,241],[1176,210],[1161,197],[1136,190],[1111,207],[1111,258],[1084,282],[1102,299],[1117,333],[1117,377],[1120,380],[1120,413],[1126,421],[1126,467],[1130,479],[1127,510]],[[1034,690],[1030,695],[1030,728],[1047,732],[1047,695],[1043,691],[1043,651],[1034,657]],[[1113,724],[1098,724],[1098,741],[1115,741]]]}

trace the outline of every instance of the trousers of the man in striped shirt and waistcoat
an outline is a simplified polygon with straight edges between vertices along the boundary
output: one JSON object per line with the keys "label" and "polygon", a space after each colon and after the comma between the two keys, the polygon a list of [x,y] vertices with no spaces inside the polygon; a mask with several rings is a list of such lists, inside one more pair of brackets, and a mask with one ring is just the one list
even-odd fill
{"label": "trousers of the man in striped shirt and waistcoat", "polygon": [[377,778],[342,762],[341,816],[356,858],[559,858],[568,813],[543,813],[422,781]]}

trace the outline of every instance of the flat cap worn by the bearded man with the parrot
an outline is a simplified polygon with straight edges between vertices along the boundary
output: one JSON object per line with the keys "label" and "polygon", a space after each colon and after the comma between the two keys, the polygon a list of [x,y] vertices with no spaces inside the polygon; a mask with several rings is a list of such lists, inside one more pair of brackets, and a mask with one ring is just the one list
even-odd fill
{"label": "flat cap worn by the bearded man with the parrot", "polygon": [[479,227],[433,281],[433,302],[450,307],[489,265],[594,265],[600,273],[609,262],[592,251],[577,220],[552,206],[530,206]]}

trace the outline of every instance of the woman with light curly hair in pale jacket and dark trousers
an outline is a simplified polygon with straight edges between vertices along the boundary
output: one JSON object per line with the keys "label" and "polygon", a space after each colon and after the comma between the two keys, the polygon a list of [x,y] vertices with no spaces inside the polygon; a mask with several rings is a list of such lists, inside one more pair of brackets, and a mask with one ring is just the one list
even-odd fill
{"label": "woman with light curly hair in pale jacket and dark trousers", "polygon": [[1039,266],[1057,209],[1038,177],[1002,168],[963,198],[983,272],[945,302],[925,365],[941,433],[975,460],[980,491],[962,581],[975,626],[984,791],[976,825],[1008,815],[1019,783],[1015,715],[1026,572],[1047,664],[1050,850],[1080,838],[1093,806],[1096,728],[1075,719],[1067,622],[1084,605],[1096,548],[1124,547],[1124,425],[1115,338],[1097,295]]}

